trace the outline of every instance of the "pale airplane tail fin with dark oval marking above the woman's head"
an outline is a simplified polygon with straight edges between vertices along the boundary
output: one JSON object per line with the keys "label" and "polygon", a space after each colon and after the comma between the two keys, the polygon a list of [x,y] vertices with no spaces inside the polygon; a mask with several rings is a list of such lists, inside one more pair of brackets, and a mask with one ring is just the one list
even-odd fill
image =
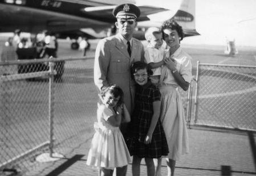
{"label": "pale airplane tail fin with dark oval marking above the woman's head", "polygon": [[185,37],[200,35],[196,31],[196,0],[183,0],[172,19],[182,26]]}

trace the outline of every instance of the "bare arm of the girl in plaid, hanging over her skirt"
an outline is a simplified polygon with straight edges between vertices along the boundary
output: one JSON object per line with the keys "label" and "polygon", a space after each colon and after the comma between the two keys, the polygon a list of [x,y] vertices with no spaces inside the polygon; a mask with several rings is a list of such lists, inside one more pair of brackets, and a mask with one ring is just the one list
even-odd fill
{"label": "bare arm of the girl in plaid, hanging over her skirt", "polygon": [[155,131],[157,121],[159,120],[160,116],[160,100],[156,100],[153,102],[153,116],[151,119],[151,124],[148,129],[147,136],[144,139],[144,144],[151,143],[153,132]]}

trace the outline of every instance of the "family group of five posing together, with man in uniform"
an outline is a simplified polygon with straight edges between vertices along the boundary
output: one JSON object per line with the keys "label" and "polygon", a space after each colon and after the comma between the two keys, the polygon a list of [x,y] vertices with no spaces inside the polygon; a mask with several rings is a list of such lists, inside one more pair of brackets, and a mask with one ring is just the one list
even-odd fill
{"label": "family group of five posing together, with man in uniform", "polygon": [[97,44],[94,82],[99,92],[95,135],[87,165],[99,175],[126,175],[132,156],[132,175],[140,175],[144,158],[147,174],[161,175],[165,158],[168,176],[176,161],[189,152],[188,132],[179,89],[188,90],[192,57],[180,47],[182,27],[166,20],[145,33],[148,42],[132,37],[139,7],[117,6],[117,34]]}

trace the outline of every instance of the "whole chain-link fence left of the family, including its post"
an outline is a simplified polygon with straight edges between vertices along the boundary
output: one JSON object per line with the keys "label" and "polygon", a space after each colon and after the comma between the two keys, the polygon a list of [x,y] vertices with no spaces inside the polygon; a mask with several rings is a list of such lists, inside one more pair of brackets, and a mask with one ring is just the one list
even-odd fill
{"label": "whole chain-link fence left of the family, including its post", "polygon": [[44,152],[67,153],[84,132],[90,139],[97,99],[92,64],[90,58],[0,62],[0,175],[31,170]]}

